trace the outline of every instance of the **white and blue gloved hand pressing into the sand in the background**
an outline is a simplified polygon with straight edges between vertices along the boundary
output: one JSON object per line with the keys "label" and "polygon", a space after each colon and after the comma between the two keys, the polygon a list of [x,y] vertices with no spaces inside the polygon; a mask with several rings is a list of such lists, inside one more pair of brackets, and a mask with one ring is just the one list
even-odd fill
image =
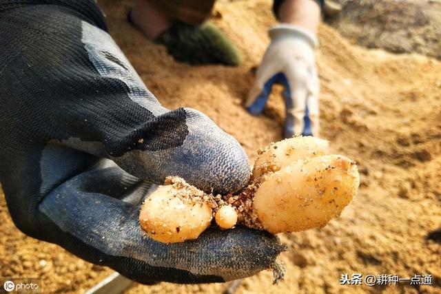
{"label": "white and blue gloved hand pressing into the sand in the background", "polygon": [[318,136],[319,82],[314,59],[316,36],[296,25],[278,24],[269,30],[271,44],[263,56],[246,107],[258,115],[263,112],[274,83],[285,90],[284,137]]}

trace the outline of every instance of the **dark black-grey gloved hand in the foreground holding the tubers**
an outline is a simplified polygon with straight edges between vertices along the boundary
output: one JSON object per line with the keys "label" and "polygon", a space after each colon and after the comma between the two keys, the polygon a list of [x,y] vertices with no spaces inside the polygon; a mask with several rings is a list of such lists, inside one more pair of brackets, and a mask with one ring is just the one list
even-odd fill
{"label": "dark black-grey gloved hand in the foreground holding the tubers", "polygon": [[249,165],[207,116],[158,103],[93,0],[0,1],[0,28],[0,180],[23,233],[145,284],[223,282],[273,266],[283,246],[263,231],[208,229],[170,245],[143,236],[151,182],[177,175],[233,191]]}

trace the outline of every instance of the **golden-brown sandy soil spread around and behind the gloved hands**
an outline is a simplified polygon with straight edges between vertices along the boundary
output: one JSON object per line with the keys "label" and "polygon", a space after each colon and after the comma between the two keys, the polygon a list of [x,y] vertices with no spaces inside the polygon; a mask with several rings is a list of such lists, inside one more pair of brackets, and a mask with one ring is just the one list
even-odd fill
{"label": "golden-brown sandy soil spread around and behind the gloved hands", "polygon": [[[131,1],[102,0],[110,33],[147,87],[166,107],[194,107],[235,136],[251,160],[280,140],[280,89],[265,114],[242,103],[252,68],[274,23],[269,0],[218,3],[214,22],[243,52],[240,67],[176,63],[125,21]],[[393,55],[351,45],[322,25],[321,136],[358,162],[361,187],[342,216],[324,229],[280,235],[289,251],[284,282],[270,271],[244,280],[237,293],[441,293],[441,63],[417,54]],[[81,293],[112,271],[83,262],[54,244],[19,232],[0,197],[0,276],[41,277],[46,291]],[[430,274],[433,286],[340,286],[342,273]],[[225,284],[136,285],[127,293],[220,293]]]}

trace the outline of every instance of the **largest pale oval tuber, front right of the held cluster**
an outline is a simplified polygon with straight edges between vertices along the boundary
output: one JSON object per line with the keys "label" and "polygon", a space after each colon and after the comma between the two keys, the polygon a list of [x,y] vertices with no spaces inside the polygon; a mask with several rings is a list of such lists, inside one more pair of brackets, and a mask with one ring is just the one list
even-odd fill
{"label": "largest pale oval tuber, front right of the held cluster", "polygon": [[340,215],[357,187],[357,167],[348,158],[328,155],[297,160],[258,187],[253,208],[270,233],[323,227]]}

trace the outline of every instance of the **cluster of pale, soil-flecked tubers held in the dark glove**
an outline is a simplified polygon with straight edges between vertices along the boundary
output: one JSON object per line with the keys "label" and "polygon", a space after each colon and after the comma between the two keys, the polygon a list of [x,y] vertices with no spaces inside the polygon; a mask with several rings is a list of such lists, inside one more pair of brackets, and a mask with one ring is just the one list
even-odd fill
{"label": "cluster of pale, soil-flecked tubers held in the dark glove", "polygon": [[196,239],[212,218],[220,229],[237,223],[270,233],[324,227],[356,195],[355,162],[328,155],[328,142],[297,136],[258,150],[249,185],[237,195],[214,196],[169,177],[143,203],[139,220],[153,240]]}

